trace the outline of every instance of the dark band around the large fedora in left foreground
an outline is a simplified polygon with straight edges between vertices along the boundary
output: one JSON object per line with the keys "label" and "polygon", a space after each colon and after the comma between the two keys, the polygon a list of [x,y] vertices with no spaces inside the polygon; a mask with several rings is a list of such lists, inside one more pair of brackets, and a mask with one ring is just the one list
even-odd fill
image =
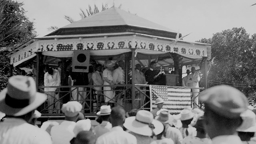
{"label": "dark band around the large fedora in left foreground", "polygon": [[29,105],[29,99],[19,100],[10,97],[9,94],[6,94],[5,103],[12,108],[24,108]]}

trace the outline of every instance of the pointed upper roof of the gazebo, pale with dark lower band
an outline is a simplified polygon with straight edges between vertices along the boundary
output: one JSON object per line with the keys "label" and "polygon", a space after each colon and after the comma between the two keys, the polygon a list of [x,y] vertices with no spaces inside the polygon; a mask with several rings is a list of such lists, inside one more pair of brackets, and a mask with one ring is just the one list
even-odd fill
{"label": "pointed upper roof of the gazebo, pale with dark lower band", "polygon": [[[153,36],[175,38],[177,32],[119,8],[109,8],[64,26],[46,36],[138,32]],[[181,34],[180,34],[181,36]]]}

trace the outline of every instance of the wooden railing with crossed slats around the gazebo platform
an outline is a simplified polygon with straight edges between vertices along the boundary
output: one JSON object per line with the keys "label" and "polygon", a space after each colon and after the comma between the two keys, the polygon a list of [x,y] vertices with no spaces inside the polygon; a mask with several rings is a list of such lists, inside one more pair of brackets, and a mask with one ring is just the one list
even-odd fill
{"label": "wooden railing with crossed slats around the gazebo platform", "polygon": [[[42,104],[38,110],[42,113],[42,116],[63,116],[60,110],[62,104],[74,100],[83,105],[82,112],[84,112],[86,116],[96,116],[96,112],[100,110],[100,106],[107,105],[111,100],[114,100],[115,106],[122,106],[126,111],[132,109],[132,84],[108,85],[109,87],[112,87],[112,91],[114,91],[116,95],[114,98],[110,98],[110,100],[107,102],[104,101],[104,98],[107,97],[104,95],[104,91],[107,91],[103,90],[104,86],[105,85],[40,86],[38,88],[39,92],[47,94],[48,100]],[[95,87],[100,87],[102,90],[96,90]],[[56,91],[45,92],[44,88],[56,88]],[[204,88],[197,89],[203,90]],[[48,102],[50,97],[54,98],[54,102]],[[134,97],[134,108],[139,110],[150,110],[150,107],[148,107],[150,101],[145,101],[146,98],[150,99],[149,85],[135,84]]]}

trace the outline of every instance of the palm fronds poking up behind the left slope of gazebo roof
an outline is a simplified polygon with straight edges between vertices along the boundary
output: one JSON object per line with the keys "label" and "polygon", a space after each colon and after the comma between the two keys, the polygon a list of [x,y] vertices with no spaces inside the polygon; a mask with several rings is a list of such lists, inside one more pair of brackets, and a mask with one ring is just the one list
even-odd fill
{"label": "palm fronds poking up behind the left slope of gazebo roof", "polygon": [[[120,5],[121,6],[121,5]],[[119,6],[119,7],[120,7]],[[94,10],[92,10],[92,7],[90,6],[90,5],[88,5],[88,9],[86,9],[86,12],[84,11],[84,10],[82,10],[82,9],[80,9],[80,13],[79,13],[79,15],[80,15],[80,17],[81,17],[81,19],[83,19],[83,18],[87,18],[88,16],[91,16],[91,15],[93,15],[93,14],[96,14],[96,13],[98,13],[98,12],[100,12],[99,11],[99,9],[98,9],[98,7],[96,6],[96,4],[94,4]],[[106,10],[106,9],[108,9],[108,4],[102,4],[102,11],[103,10]],[[87,14],[86,14],[87,13]],[[75,20],[72,18],[72,17],[70,17],[70,16],[64,16],[64,18],[66,19],[66,20],[68,20],[70,23],[72,23],[72,22],[75,22]],[[48,29],[48,31],[54,31],[54,30],[58,30],[59,28],[57,27],[57,26],[50,26],[49,28],[47,28]]]}

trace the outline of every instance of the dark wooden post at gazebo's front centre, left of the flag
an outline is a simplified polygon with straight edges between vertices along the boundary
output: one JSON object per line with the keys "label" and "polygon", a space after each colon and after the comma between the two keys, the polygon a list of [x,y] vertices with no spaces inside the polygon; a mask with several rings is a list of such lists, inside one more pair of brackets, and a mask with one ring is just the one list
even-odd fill
{"label": "dark wooden post at gazebo's front centre, left of the flag", "polygon": [[135,49],[132,49],[132,109],[135,108]]}

